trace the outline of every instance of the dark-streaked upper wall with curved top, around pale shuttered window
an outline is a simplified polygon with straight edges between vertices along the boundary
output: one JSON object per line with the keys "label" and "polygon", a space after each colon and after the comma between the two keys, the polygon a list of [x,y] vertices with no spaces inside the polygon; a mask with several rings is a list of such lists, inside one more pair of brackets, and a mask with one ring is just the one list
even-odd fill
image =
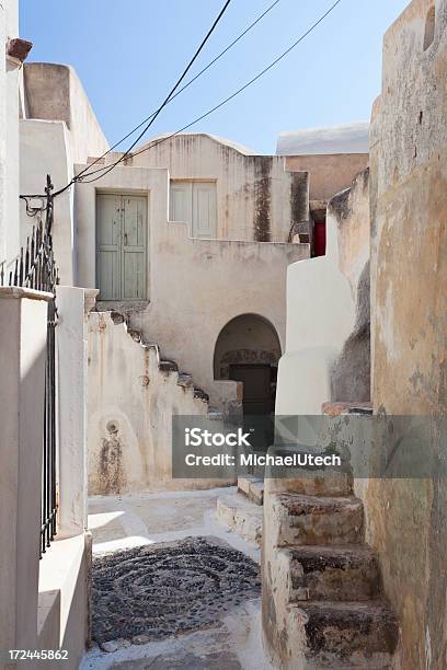
{"label": "dark-streaked upper wall with curved top, around pale shuttered window", "polygon": [[175,180],[216,180],[218,238],[247,241],[263,234],[286,242],[291,224],[308,220],[306,181],[294,199],[294,182],[302,175],[285,172],[282,157],[249,155],[225,140],[191,134],[154,143],[131,164],[168,169]]}

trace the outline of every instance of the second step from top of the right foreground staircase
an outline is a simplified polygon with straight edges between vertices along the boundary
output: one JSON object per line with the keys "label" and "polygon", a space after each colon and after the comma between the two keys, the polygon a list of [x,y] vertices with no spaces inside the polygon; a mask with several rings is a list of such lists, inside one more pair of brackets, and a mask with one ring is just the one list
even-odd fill
{"label": "second step from top of the right foreground staircase", "polygon": [[363,504],[349,497],[272,494],[274,546],[356,544],[363,540]]}

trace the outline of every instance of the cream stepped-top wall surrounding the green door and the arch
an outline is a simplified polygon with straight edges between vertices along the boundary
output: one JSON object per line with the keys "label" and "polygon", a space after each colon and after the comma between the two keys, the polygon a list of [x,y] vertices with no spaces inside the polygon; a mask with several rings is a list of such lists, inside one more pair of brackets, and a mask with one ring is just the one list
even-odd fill
{"label": "cream stepped-top wall surrounding the green door and the arch", "polygon": [[96,188],[148,194],[150,303],[133,312],[130,323],[219,405],[222,389],[214,382],[213,360],[221,328],[240,314],[259,314],[284,346],[286,269],[309,255],[308,245],[191,239],[186,223],[168,221],[168,171],[118,166],[76,187],[81,286],[95,286]]}

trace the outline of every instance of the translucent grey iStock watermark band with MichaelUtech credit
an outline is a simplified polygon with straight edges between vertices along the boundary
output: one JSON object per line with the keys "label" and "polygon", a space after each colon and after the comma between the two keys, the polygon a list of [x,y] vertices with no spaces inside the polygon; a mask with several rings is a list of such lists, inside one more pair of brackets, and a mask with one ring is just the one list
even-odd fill
{"label": "translucent grey iStock watermark band with MichaelUtech credit", "polygon": [[439,478],[447,476],[447,417],[204,416],[172,419],[173,478],[238,476]]}

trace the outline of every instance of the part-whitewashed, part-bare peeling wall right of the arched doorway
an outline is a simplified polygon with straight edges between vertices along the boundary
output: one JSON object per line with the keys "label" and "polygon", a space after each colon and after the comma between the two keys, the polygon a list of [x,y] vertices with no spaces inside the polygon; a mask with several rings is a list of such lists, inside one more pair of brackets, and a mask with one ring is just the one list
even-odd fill
{"label": "part-whitewashed, part-bare peeling wall right of the arched doorway", "polygon": [[[325,256],[288,268],[286,351],[278,367],[276,415],[320,415],[324,402],[369,397],[369,285],[364,286],[369,268],[368,174],[359,172],[349,189],[330,200]],[[363,336],[365,328],[364,347],[351,338],[346,348],[349,336]],[[342,392],[354,397],[334,397]],[[368,397],[355,397],[357,393]],[[303,443],[313,443],[311,423],[301,420]]]}

